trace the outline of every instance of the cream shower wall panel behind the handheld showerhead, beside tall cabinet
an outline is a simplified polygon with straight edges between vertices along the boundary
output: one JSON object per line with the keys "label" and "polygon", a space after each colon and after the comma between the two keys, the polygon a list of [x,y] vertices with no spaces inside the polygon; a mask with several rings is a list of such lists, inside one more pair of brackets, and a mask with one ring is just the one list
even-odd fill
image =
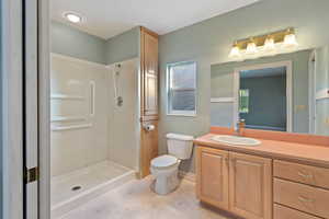
{"label": "cream shower wall panel behind the handheld showerhead, beside tall cabinet", "polygon": [[[114,92],[115,64],[109,66],[110,76],[110,103],[113,110],[109,120],[110,125],[110,150],[111,161],[126,168],[138,171],[139,158],[139,97],[138,97],[138,62],[139,59],[129,59],[120,62],[121,68],[116,76],[117,96],[122,96],[122,106],[116,105]],[[111,80],[112,78],[112,80]]]}

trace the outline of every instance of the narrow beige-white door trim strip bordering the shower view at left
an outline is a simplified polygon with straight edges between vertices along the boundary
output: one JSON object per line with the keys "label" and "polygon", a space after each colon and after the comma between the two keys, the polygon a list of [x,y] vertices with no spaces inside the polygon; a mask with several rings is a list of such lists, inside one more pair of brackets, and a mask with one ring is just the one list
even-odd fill
{"label": "narrow beige-white door trim strip bordering the shower view at left", "polygon": [[50,218],[50,18],[49,0],[38,0],[38,216]]}

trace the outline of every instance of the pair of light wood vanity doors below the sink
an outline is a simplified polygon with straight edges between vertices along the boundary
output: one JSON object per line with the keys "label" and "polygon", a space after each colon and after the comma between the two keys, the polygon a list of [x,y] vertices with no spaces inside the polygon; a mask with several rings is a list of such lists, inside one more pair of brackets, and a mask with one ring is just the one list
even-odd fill
{"label": "pair of light wood vanity doors below the sink", "polygon": [[247,219],[272,218],[272,160],[197,147],[196,194]]}

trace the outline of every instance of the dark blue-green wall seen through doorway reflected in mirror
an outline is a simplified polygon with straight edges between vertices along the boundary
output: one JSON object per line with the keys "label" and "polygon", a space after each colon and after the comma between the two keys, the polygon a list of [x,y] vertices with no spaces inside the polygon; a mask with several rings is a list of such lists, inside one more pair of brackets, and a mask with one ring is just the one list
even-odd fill
{"label": "dark blue-green wall seen through doorway reflected in mirror", "polygon": [[241,113],[246,125],[286,128],[286,76],[240,78],[249,90],[249,112]]}

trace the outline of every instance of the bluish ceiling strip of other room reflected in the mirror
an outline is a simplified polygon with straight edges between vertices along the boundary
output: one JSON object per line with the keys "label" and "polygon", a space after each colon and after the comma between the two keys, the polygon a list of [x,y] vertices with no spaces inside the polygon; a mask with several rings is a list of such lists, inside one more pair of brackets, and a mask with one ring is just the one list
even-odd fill
{"label": "bluish ceiling strip of other room reflected in the mirror", "polygon": [[284,76],[286,73],[286,67],[277,68],[265,68],[258,70],[246,70],[240,72],[240,78],[263,78],[263,77],[274,77],[274,76]]}

